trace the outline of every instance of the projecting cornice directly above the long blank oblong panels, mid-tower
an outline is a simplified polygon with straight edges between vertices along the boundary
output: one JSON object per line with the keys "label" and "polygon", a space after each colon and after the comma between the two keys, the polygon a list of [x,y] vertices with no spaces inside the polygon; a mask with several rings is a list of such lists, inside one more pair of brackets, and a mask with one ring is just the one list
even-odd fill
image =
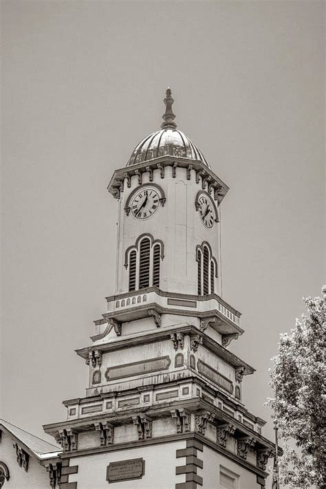
{"label": "projecting cornice directly above the long blank oblong panels, mid-tower", "polygon": [[[220,358],[223,358],[227,362],[230,363],[233,367],[243,367],[243,375],[250,375],[254,373],[255,369],[248,365],[248,363],[243,362],[241,358],[237,357],[235,354],[232,354],[231,351],[224,348],[223,346],[216,343],[212,338],[210,338],[205,332],[199,331],[197,327],[194,325],[184,325],[184,326],[173,326],[173,327],[161,327],[155,330],[151,330],[151,332],[144,334],[142,336],[134,336],[133,338],[124,338],[120,336],[114,342],[102,343],[96,345],[96,349],[98,351],[109,352],[116,351],[120,349],[131,348],[136,345],[144,345],[144,343],[155,343],[162,340],[167,340],[171,338],[171,334],[175,332],[181,332],[183,334],[197,334],[199,338],[202,338],[202,345],[217,354]],[[82,358],[88,358],[89,351],[94,350],[94,346],[79,348],[76,349],[76,353]]]}

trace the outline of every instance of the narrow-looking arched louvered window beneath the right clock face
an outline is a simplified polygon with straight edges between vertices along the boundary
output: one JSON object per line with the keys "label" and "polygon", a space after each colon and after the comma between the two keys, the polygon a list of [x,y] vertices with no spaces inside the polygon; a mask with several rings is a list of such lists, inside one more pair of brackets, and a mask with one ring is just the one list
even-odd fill
{"label": "narrow-looking arched louvered window beneath the right clock face", "polygon": [[206,241],[197,246],[197,281],[198,295],[207,296],[215,293],[215,277],[217,277],[217,261],[212,255],[212,250]]}

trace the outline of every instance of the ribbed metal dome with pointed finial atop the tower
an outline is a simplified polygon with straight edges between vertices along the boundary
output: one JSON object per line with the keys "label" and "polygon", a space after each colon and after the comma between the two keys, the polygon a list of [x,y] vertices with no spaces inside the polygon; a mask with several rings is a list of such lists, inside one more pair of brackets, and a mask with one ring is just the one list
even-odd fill
{"label": "ribbed metal dome with pointed finial atop the tower", "polygon": [[184,157],[189,160],[199,160],[210,168],[206,157],[199,151],[197,146],[182,131],[176,129],[177,124],[174,121],[175,115],[172,111],[173,98],[169,88],[166,90],[164,103],[166,111],[162,116],[164,119],[161,125],[162,129],[147,135],[146,138],[140,141],[131,153],[127,166],[169,155]]}

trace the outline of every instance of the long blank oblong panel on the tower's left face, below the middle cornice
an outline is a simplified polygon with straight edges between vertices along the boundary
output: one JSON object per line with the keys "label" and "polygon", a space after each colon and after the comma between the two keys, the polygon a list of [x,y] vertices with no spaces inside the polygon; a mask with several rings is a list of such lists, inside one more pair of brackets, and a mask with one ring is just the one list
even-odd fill
{"label": "long blank oblong panel on the tower's left face, below the middle cornice", "polygon": [[124,365],[109,367],[105,372],[105,377],[107,380],[116,380],[124,377],[139,376],[142,373],[169,369],[170,363],[171,359],[169,356],[151,358],[150,360],[142,360],[141,362],[125,363]]}

